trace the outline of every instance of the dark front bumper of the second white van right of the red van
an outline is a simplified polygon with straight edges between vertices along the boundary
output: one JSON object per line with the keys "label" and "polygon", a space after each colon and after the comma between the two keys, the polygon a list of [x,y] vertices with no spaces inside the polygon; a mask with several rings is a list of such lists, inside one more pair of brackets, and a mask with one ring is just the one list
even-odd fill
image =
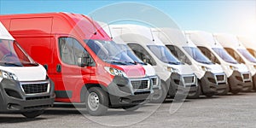
{"label": "dark front bumper of the second white van right of the red van", "polygon": [[172,73],[170,78],[171,84],[168,94],[174,96],[189,96],[197,91],[197,79],[195,75],[180,75]]}

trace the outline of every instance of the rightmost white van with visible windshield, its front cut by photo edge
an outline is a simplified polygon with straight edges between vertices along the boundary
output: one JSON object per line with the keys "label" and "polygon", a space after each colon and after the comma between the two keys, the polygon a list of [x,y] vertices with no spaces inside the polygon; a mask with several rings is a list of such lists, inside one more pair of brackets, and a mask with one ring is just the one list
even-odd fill
{"label": "rightmost white van with visible windshield, its front cut by photo edge", "polygon": [[247,66],[250,74],[244,75],[244,79],[253,79],[253,88],[256,87],[256,59],[251,55],[247,49],[239,42],[236,36],[225,33],[214,34],[216,38],[226,51],[233,56],[239,63]]}

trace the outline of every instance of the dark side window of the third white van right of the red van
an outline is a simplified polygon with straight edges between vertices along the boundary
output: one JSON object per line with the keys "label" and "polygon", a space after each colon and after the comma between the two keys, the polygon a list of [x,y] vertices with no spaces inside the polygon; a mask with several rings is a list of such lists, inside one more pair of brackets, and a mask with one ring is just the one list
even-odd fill
{"label": "dark side window of the third white van right of the red van", "polygon": [[174,55],[179,61],[182,61],[188,65],[192,65],[191,61],[189,61],[189,58],[183,54],[183,51],[177,46],[174,45],[166,45],[166,47],[172,52],[172,55]]}

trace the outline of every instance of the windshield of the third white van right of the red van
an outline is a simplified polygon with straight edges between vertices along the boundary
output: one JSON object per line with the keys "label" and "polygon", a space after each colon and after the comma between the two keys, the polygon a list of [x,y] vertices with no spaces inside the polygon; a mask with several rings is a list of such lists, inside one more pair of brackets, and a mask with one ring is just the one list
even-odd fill
{"label": "windshield of the third white van right of the red van", "polygon": [[201,50],[196,47],[183,47],[186,52],[195,60],[204,64],[212,64],[205,55],[201,53]]}

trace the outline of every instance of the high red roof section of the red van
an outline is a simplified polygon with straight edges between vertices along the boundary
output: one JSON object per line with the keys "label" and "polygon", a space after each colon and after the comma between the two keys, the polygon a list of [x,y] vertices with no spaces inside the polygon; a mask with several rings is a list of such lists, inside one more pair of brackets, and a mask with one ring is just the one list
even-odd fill
{"label": "high red roof section of the red van", "polygon": [[[13,33],[14,35],[16,32],[20,34],[19,31],[26,31],[29,34],[64,33],[79,35],[84,39],[101,38],[105,40],[110,40],[108,34],[102,30],[101,26],[99,26],[95,20],[92,20],[86,15],[60,12],[42,14],[1,15],[0,18],[4,21],[3,25],[9,26],[9,32]],[[34,23],[38,21],[40,21],[41,24]],[[28,22],[30,22],[31,24]]]}

